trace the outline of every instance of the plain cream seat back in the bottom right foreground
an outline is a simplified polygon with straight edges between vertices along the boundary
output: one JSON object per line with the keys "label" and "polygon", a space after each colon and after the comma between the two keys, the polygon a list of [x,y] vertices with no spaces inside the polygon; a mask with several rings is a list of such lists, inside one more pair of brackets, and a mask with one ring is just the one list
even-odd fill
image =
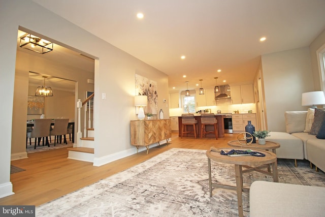
{"label": "plain cream seat back in the bottom right foreground", "polygon": [[325,188],[254,181],[249,190],[249,214],[263,216],[324,216]]}

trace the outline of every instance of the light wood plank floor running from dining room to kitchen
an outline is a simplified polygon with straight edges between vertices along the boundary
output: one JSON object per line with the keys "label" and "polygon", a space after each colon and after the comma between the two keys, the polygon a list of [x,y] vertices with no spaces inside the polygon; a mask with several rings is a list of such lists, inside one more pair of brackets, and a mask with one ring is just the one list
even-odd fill
{"label": "light wood plank floor running from dining room to kitchen", "polygon": [[180,138],[173,133],[169,145],[163,144],[101,167],[92,163],[67,159],[67,148],[28,154],[28,159],[12,161],[11,164],[25,171],[10,176],[14,195],[1,198],[1,205],[40,205],[76,191],[100,179],[144,162],[171,148],[208,150],[211,146],[228,147],[227,142],[236,140],[238,134],[225,134],[224,138]]}

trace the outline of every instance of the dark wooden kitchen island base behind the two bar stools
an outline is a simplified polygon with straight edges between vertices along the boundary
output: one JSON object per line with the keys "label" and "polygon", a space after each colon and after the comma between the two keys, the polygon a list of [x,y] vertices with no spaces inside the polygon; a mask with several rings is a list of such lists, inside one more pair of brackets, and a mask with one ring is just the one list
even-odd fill
{"label": "dark wooden kitchen island base behind the two bar stools", "polygon": [[[224,122],[223,122],[223,115],[224,114],[215,114],[216,119],[218,120],[218,138],[223,138],[224,137]],[[201,137],[201,115],[194,115],[194,118],[198,121],[198,134],[199,137]],[[187,126],[187,129],[189,131],[193,131],[193,127],[192,126]],[[213,125],[208,125],[206,126],[206,131],[214,131]],[[178,117],[178,136],[181,137],[182,136],[182,116]],[[187,137],[194,137],[194,135],[192,134],[187,134]],[[207,138],[215,138],[214,134],[207,134],[206,135]]]}

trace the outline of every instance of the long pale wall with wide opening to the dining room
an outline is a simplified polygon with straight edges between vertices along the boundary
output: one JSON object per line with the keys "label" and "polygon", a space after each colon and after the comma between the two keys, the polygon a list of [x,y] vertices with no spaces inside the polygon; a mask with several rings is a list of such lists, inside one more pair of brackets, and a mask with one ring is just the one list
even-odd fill
{"label": "long pale wall with wide opening to the dining room", "polygon": [[[28,11],[28,16],[23,16]],[[60,45],[69,45],[84,54],[96,57],[94,74],[94,128],[95,161],[98,165],[125,157],[136,152],[130,145],[129,121],[137,119],[134,107],[135,74],[140,74],[158,83],[158,108],[163,108],[169,117],[168,76],[125,53],[111,44],[91,35],[76,25],[40,7],[31,0],[1,0],[0,29],[0,123],[2,138],[0,164],[0,197],[12,194],[10,182],[10,150],[12,144],[13,93],[15,78],[15,58],[17,30],[19,26],[30,29],[50,41]],[[95,24],[95,23],[94,23]],[[27,86],[26,86],[27,87]],[[106,100],[102,100],[102,93]],[[78,92],[81,95],[81,93]],[[26,107],[25,107],[26,108]]]}

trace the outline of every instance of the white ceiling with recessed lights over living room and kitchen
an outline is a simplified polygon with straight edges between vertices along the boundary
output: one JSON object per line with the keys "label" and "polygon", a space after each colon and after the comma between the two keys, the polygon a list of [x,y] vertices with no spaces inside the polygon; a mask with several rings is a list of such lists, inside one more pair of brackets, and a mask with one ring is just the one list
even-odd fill
{"label": "white ceiling with recessed lights over living room and kitchen", "polygon": [[170,92],[252,82],[261,55],[325,29],[324,0],[33,1],[166,73]]}

